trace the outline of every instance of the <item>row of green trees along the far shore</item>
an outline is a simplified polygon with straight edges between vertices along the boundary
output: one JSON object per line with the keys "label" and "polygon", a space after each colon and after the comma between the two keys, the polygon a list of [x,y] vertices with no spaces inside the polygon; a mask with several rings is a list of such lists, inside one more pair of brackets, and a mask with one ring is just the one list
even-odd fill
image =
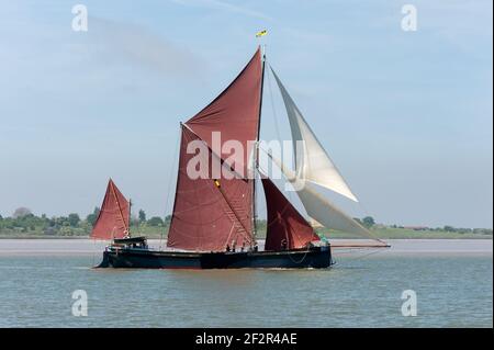
{"label": "row of green trees along the far shore", "polygon": [[[79,214],[71,213],[67,216],[52,216],[43,214],[41,216],[34,215],[26,207],[19,207],[9,217],[2,217],[0,215],[0,234],[1,235],[43,235],[43,236],[88,236],[91,233],[98,215],[100,213],[99,207],[94,207],[93,212],[81,218]],[[459,234],[482,234],[492,235],[491,228],[457,228],[453,226],[444,227],[406,227],[398,225],[384,226],[382,224],[375,224],[375,221],[371,216],[363,218],[356,218],[360,224],[367,228],[385,229],[385,228],[403,228],[414,230],[430,230],[430,232],[445,232],[445,233],[459,233]],[[131,217],[131,230],[142,233],[166,233],[171,221],[171,215],[164,218],[159,216],[153,216],[147,218],[146,212],[139,210],[137,215]],[[259,219],[257,222],[260,230],[266,230],[266,221]]]}

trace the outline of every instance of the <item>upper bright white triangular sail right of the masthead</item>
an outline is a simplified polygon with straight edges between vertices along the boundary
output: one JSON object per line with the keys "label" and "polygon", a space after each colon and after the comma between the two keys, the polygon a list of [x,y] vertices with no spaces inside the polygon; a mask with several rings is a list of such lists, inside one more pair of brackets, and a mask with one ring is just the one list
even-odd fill
{"label": "upper bright white triangular sail right of the masthead", "polygon": [[296,176],[358,202],[272,68],[271,71],[280,88],[290,121]]}

